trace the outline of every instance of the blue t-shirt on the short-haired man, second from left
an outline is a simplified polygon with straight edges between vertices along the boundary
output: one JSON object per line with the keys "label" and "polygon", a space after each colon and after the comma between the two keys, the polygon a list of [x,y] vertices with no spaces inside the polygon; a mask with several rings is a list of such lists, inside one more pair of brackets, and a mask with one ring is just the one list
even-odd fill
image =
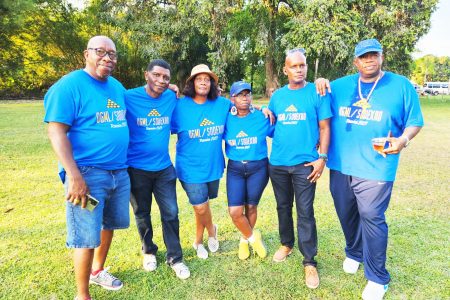
{"label": "blue t-shirt on the short-haired man, second from left", "polygon": [[146,171],[160,171],[172,164],[169,156],[170,122],[177,98],[166,90],[150,97],[145,87],[125,92],[130,129],[128,165]]}

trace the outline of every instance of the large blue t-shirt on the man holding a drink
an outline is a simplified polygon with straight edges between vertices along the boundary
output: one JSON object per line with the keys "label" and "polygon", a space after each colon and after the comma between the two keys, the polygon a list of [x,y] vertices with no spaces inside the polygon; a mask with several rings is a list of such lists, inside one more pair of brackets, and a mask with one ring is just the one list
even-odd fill
{"label": "large blue t-shirt on the man holding a drink", "polygon": [[[359,74],[331,83],[333,118],[327,166],[343,174],[371,180],[394,181],[398,154],[386,158],[372,148],[372,138],[399,137],[405,128],[423,126],[419,98],[409,80],[385,72],[369,99],[370,107],[359,102]],[[367,97],[373,83],[362,83]]]}

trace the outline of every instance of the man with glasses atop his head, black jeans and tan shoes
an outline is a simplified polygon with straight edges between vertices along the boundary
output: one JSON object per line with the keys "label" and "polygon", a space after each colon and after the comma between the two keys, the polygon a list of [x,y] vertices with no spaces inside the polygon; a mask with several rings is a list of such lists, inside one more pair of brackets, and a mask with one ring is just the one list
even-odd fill
{"label": "man with glasses atop his head, black jeans and tan shoes", "polygon": [[[308,66],[304,49],[286,54],[283,72],[289,83],[275,91],[269,109],[277,118],[272,140],[269,175],[277,201],[281,247],[275,262],[284,261],[294,247],[292,207],[297,209],[298,247],[303,254],[306,286],[319,286],[317,229],[314,218],[316,181],[327,160],[332,116],[328,96],[320,97],[306,81]],[[319,145],[319,151],[317,150]]]}

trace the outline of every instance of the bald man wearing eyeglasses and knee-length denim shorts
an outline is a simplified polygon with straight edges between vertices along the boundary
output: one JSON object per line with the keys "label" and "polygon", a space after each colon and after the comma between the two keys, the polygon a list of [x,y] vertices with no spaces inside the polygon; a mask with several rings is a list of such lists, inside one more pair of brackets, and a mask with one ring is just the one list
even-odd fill
{"label": "bald man wearing eyeglasses and knee-length denim shorts", "polygon": [[[91,299],[89,283],[119,290],[122,282],[104,264],[115,229],[129,226],[129,140],[125,89],[111,76],[114,42],[95,36],[84,51],[86,67],[62,77],[44,98],[48,136],[66,191],[67,247],[73,260],[77,297]],[[92,195],[98,200],[87,209]]]}

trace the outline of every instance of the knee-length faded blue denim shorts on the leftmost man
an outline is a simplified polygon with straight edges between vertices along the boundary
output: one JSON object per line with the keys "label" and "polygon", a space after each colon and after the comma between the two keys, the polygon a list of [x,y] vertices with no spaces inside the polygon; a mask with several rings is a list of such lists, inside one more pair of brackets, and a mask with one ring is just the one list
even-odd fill
{"label": "knee-length faded blue denim shorts on the leftmost man", "polygon": [[[91,212],[80,205],[66,203],[68,248],[96,248],[102,229],[114,230],[130,226],[130,178],[126,169],[102,170],[79,167],[90,194],[99,201]],[[64,188],[67,194],[68,180]]]}

